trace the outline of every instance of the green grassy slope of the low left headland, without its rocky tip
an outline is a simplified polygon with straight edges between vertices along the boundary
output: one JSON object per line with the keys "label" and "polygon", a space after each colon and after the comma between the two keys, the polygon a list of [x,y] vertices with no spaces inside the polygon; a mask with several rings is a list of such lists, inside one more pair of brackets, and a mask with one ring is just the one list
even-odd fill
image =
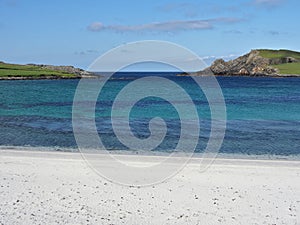
{"label": "green grassy slope of the low left headland, without its rocky tip", "polygon": [[0,77],[76,77],[75,74],[43,69],[33,65],[17,65],[0,62]]}

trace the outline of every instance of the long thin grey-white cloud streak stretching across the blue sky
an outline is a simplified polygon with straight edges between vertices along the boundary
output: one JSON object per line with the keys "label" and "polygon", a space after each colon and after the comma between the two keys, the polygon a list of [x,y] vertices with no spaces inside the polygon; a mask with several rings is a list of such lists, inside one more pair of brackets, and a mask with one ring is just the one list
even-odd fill
{"label": "long thin grey-white cloud streak stretching across the blue sky", "polygon": [[158,23],[147,23],[140,25],[104,25],[101,22],[91,23],[87,29],[93,32],[100,32],[104,30],[112,30],[117,32],[130,31],[159,31],[159,32],[173,32],[182,30],[204,30],[212,29],[216,23],[236,23],[241,21],[238,18],[222,17],[207,20],[177,20]]}

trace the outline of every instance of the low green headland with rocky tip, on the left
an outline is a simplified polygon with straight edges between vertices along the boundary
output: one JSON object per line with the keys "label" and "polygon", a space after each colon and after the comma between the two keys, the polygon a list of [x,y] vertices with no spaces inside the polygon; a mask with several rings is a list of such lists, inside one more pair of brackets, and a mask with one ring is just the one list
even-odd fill
{"label": "low green headland with rocky tip, on the left", "polygon": [[95,75],[73,66],[19,65],[0,62],[0,80],[74,79],[82,77],[95,77]]}

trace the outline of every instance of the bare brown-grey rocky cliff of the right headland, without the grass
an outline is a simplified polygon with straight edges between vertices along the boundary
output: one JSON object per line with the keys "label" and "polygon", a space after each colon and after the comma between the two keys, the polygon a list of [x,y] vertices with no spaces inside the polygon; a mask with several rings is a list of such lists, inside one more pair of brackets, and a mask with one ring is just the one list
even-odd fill
{"label": "bare brown-grey rocky cliff of the right headland, without the grass", "polygon": [[211,73],[237,76],[279,75],[279,70],[272,65],[293,62],[297,62],[293,57],[264,58],[260,55],[259,50],[252,50],[250,53],[228,62],[217,59],[209,68],[199,71],[195,75],[209,75]]}

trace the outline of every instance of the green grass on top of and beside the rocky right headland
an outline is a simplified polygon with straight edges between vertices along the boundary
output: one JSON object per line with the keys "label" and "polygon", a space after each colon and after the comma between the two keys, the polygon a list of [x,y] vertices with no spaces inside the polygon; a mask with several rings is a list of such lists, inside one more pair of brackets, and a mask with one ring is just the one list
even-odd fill
{"label": "green grass on top of and beside the rocky right headland", "polygon": [[[274,59],[274,58],[284,58],[293,57],[300,61],[300,52],[290,51],[290,50],[259,50],[260,55],[264,58]],[[272,65],[278,68],[280,74],[300,74],[300,62],[297,63],[285,63],[279,65]]]}

